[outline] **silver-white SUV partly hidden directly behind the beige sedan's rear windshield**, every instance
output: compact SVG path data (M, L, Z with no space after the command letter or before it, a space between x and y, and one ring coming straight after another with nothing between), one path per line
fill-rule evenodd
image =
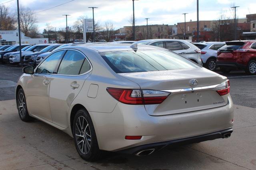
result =
M153 45L169 49L195 63L202 65L201 51L195 45L182 39L146 39L137 41L134 44Z

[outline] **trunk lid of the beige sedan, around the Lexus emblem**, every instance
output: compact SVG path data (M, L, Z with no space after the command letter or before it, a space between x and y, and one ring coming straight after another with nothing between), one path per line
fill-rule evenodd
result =
M192 79L198 81L196 87L214 86L226 80L226 77L206 68L119 74L136 82L141 89L174 91L161 104L144 105L149 115L184 113L220 107L228 103L227 95L220 96L213 89L178 90L191 88L190 80Z

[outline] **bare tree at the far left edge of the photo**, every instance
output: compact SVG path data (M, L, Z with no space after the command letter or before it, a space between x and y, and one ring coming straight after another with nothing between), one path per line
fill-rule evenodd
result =
M9 8L0 5L0 30L13 30L16 28L16 19L10 14Z

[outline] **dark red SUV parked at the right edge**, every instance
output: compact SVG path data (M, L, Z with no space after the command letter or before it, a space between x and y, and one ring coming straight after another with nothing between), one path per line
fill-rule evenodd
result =
M256 74L256 40L230 41L218 50L216 64L223 73L243 69Z

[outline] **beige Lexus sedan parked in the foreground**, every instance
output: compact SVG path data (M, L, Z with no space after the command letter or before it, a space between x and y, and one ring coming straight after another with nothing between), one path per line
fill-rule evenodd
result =
M233 131L229 80L167 49L68 46L23 72L20 119L68 133L85 160L106 150L144 156Z

